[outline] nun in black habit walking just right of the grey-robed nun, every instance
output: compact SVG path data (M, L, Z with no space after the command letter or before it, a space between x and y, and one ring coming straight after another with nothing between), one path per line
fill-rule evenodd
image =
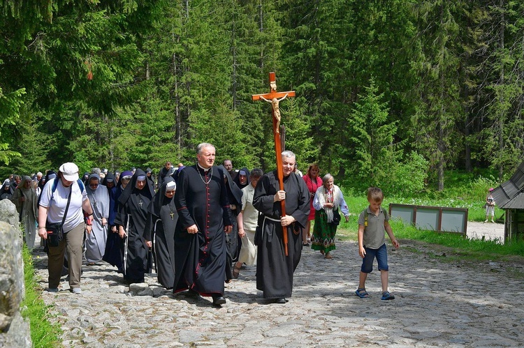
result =
M118 198L119 206L115 225L117 225L119 236L124 239L122 264L124 279L129 282L144 282L144 275L148 271L150 252L145 245L144 230L147 206L153 196L154 191L147 184L145 172L142 169L136 169L131 181Z

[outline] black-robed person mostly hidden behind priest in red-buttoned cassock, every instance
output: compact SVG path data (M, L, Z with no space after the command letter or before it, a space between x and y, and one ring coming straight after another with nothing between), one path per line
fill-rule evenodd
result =
M240 190L237 184L231 179L231 175L228 173L224 165L219 165L218 167L222 169L222 172L224 172L224 183L226 183L229 206L231 208L229 219L231 220L231 225L233 225L231 233L226 234L226 282L230 282L233 279L233 263L238 260L238 253L240 252L237 216L238 213L242 211L242 190Z

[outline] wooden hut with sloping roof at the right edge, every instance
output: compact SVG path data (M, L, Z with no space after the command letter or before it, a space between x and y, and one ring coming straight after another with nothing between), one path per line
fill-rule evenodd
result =
M511 179L491 192L497 206L504 209L504 241L524 238L524 162Z

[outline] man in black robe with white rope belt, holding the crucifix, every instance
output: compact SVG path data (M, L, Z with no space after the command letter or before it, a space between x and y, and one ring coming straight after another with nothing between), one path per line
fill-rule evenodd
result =
M293 273L302 254L302 232L310 214L310 192L305 181L293 173L295 154L282 152L284 190L279 190L277 171L264 174L256 184L253 206L262 213L256 229L256 289L264 298L286 303L293 292ZM280 201L285 199L286 215ZM288 236L288 256L282 232Z

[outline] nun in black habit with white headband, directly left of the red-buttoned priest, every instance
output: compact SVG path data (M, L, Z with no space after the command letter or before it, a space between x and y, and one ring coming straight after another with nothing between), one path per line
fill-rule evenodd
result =
M167 176L154 196L147 212L144 239L152 248L159 283L173 289L175 283L175 227L178 213L175 207L175 180Z

